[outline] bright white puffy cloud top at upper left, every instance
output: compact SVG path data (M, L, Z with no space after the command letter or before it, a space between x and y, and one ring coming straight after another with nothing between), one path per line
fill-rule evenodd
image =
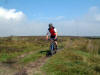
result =
M5 9L3 7L0 7L0 18L4 18L7 20L13 19L13 20L21 20L22 18L25 18L25 15L23 12L19 11L16 12L16 9Z

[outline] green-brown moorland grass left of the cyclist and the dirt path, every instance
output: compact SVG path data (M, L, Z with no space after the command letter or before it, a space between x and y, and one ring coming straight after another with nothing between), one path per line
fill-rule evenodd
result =
M34 53L35 51L40 51L41 49L46 50L48 47L46 41L41 40L41 37L8 37L3 38L0 41L1 62L9 62L10 60L16 59L20 55L24 55L25 53ZM28 56L26 55L26 58L27 57Z

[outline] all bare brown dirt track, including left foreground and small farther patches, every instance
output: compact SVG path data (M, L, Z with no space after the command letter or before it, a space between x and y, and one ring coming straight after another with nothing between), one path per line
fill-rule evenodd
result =
M58 52L61 49L58 50ZM29 52L28 54L32 54L33 52ZM28 54L24 54L19 56L20 58L25 57ZM49 57L43 56L37 59L34 62L30 62L24 67L19 68L17 64L0 64L0 75L46 75L45 72L41 70L41 67L48 61ZM18 68L16 68L18 67Z

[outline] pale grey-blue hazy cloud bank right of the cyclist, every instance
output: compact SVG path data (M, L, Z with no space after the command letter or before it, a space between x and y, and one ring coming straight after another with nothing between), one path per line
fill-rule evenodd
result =
M75 36L100 36L100 11L91 7L87 14L74 20L55 23L60 34Z

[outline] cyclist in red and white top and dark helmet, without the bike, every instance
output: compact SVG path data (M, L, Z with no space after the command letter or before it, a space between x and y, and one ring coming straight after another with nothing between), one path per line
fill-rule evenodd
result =
M50 39L54 39L55 44L56 44L56 49L57 49L57 30L53 26L53 24L49 24L48 32L46 34L46 39L48 40L48 36L50 35Z

